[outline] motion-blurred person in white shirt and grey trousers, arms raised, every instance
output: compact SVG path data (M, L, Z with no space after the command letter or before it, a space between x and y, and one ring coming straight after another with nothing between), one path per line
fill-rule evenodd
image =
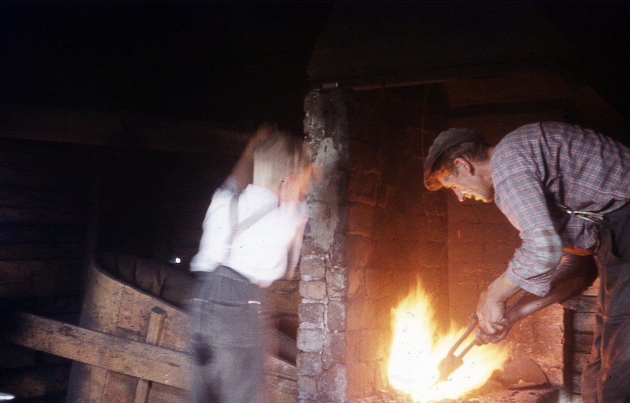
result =
M311 172L303 139L262 124L214 192L190 262L192 402L263 400L263 289L293 275Z

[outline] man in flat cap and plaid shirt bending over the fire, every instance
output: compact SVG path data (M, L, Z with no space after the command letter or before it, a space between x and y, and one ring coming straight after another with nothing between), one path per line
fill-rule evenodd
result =
M520 231L507 270L482 293L481 337L498 342L513 320L506 301L524 289L546 296L571 266L595 255L601 288L595 341L583 370L584 403L630 399L630 151L598 132L558 122L516 129L491 146L472 129L449 129L425 160L425 185L460 201L495 201Z

